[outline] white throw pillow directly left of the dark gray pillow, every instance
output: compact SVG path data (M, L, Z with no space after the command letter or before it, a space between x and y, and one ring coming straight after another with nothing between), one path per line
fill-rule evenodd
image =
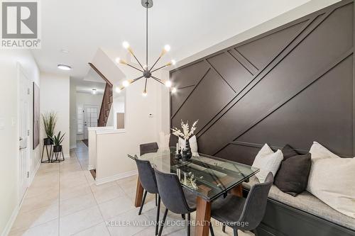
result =
M273 152L267 144L263 145L261 150L256 155L252 165L253 167L260 169L260 171L255 175L259 182L265 182L268 172L272 172L273 176L275 176L282 161L283 152L281 152L281 150Z

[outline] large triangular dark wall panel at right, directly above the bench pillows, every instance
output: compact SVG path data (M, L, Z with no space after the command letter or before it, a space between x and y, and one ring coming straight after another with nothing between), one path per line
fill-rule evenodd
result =
M312 142L317 140L332 147L334 152L351 156L352 69L353 60L348 57L237 141L270 142L278 147L288 143L309 150Z

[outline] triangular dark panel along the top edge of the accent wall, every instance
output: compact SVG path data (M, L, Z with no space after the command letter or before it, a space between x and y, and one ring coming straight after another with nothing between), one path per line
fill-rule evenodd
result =
M294 26L285 28L266 37L259 38L250 43L236 47L241 55L248 60L256 68L261 69L275 57L275 54L280 51L286 43L296 35L296 33L305 25L305 22L297 23Z

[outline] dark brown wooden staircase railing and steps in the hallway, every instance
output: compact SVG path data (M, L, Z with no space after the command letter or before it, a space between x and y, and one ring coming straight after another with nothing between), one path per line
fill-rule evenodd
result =
M94 69L97 74L99 74L102 79L106 82L105 86L105 91L104 91L104 96L102 97L102 103L101 103L101 109L100 109L100 114L99 114L99 120L97 120L97 126L98 127L104 127L107 125L107 119L109 118L109 113L111 111L111 105L113 103L114 95L113 95L113 89L112 89L112 84L109 82L109 80L102 74L102 72L97 69L97 67L94 66L94 64L89 63L89 66Z

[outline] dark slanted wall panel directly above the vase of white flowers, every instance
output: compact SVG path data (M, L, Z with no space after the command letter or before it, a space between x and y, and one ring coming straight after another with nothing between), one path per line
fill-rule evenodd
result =
M234 91L214 70L210 69L185 101L184 106L176 113L172 125L180 127L180 120L189 120L192 123L198 119L198 132L199 128L215 116L219 108L225 106L233 96Z

